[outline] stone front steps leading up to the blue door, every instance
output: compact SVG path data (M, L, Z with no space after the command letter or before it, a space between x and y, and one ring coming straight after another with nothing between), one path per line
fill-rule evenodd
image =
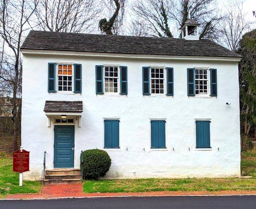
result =
M81 170L73 168L46 170L44 184L81 183Z

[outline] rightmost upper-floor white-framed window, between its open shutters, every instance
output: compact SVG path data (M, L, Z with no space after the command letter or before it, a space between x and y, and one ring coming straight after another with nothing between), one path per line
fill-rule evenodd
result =
M196 95L209 95L208 78L209 75L207 68L195 68Z

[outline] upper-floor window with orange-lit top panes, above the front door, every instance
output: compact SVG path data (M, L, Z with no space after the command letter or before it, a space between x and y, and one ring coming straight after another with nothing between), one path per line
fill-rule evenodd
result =
M73 91L73 65L58 64L58 91Z

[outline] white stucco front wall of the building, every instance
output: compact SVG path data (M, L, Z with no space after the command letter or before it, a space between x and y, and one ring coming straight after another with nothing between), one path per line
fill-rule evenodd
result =
M49 94L48 62L81 63L82 94ZM53 168L54 125L52 121L47 127L46 100L83 101L82 127L75 124L75 167L79 167L81 150L103 149L104 118L119 118L120 149L105 149L112 158L106 178L240 175L237 62L24 54L23 63L21 140L30 151L25 179L41 178L44 151L47 169ZM128 66L127 96L95 94L95 65L102 64ZM143 96L142 66L173 67L174 96ZM187 97L188 67L217 68L217 98ZM166 120L167 149L150 148L150 119ZM212 150L195 149L195 119L211 120Z

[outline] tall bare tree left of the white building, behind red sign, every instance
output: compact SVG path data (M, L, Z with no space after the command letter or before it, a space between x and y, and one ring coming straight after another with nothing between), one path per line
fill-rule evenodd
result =
M22 74L20 45L27 26L30 28L37 0L3 0L0 4L0 36L8 51L8 56L3 55L0 83L5 82L12 91L13 150L16 150Z

